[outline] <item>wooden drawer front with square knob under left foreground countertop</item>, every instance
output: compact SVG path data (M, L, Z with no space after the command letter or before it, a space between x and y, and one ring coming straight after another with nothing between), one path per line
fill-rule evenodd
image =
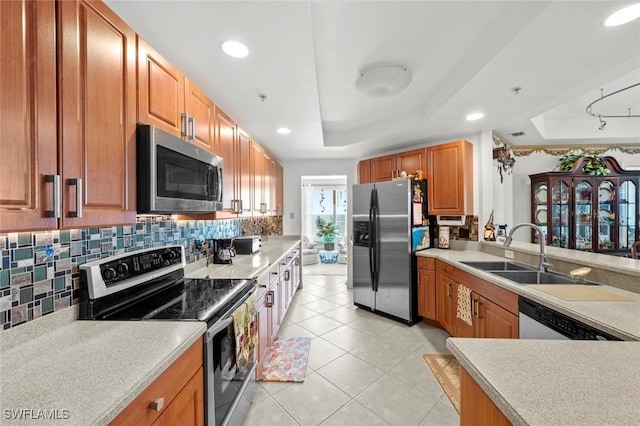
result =
M173 362L131 404L110 423L116 425L150 425L165 411L176 395L202 367L202 337ZM164 398L162 407L153 410L151 404Z

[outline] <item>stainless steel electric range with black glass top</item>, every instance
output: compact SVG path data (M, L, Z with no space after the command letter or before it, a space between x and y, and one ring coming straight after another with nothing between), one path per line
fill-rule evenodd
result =
M182 246L141 250L80 266L80 319L205 321L205 419L208 426L242 424L255 392L255 368L233 362L231 314L253 293L255 280L188 279Z

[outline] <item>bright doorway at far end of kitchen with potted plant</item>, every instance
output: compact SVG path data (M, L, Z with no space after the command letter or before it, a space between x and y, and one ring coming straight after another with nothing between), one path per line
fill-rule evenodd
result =
M302 176L302 264L311 275L347 275L347 177Z

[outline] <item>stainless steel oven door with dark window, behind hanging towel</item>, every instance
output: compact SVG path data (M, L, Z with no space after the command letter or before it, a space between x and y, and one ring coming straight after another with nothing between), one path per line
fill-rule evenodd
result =
M233 339L232 317L217 321L206 333L204 370L207 426L240 425L253 403L258 363L253 360L246 372L237 373L231 362Z

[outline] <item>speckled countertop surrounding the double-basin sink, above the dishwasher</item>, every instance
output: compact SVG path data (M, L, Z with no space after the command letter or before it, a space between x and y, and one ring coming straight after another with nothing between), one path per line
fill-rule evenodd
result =
M569 250L566 250L569 251ZM439 250L430 249L416 253L417 256L435 257L456 268L474 274L499 287L542 303L558 312L564 313L585 324L589 324L604 332L623 340L640 340L640 294L615 287L599 286L603 291L620 294L635 302L574 302L554 297L536 290L535 285L516 284L506 278L465 265L463 261L509 260L478 250ZM603 256L603 255L600 255ZM625 259L623 262L626 263ZM632 259L639 263L637 260ZM640 274L639 274L640 275Z

